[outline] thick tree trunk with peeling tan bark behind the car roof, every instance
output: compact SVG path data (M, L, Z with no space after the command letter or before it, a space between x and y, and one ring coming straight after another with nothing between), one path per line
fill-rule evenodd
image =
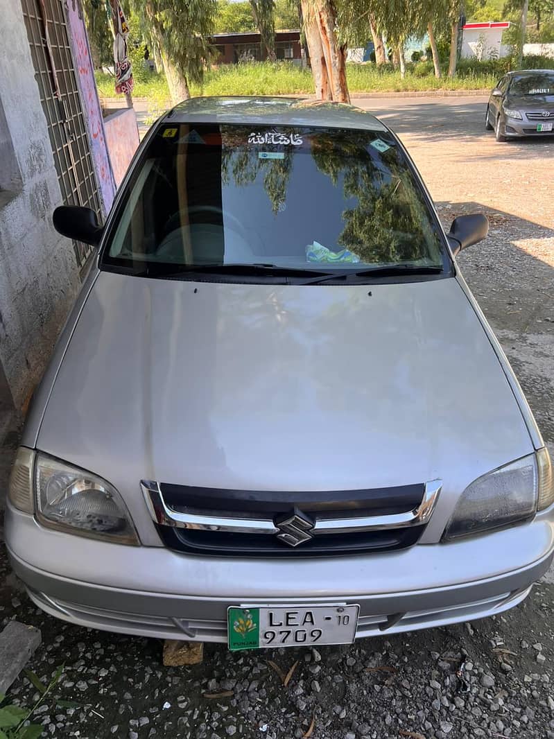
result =
M338 39L335 0L302 0L302 15L312 62L315 98L349 103L346 41Z

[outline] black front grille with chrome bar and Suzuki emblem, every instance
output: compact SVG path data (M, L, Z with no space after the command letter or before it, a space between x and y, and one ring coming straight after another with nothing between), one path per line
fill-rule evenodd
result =
M142 483L166 547L214 556L338 556L420 539L433 483L350 491L240 491Z

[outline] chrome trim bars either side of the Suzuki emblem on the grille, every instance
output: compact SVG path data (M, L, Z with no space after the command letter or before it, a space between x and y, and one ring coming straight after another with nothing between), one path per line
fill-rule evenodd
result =
M225 534L278 534L280 531L271 519L211 516L192 508L186 511L176 511L165 503L159 483L141 480L140 488L152 520L158 525L201 531L220 531ZM363 531L383 531L389 528L424 525L428 523L433 514L441 488L442 480L431 480L425 483L421 503L412 511L404 513L344 518L316 517L310 534L312 536L355 534Z

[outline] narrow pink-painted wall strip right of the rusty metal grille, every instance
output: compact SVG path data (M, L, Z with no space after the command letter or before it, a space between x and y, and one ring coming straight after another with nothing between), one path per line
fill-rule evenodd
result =
M68 0L66 2L66 17L100 200L103 202L104 212L107 213L114 200L115 184L106 146L102 110L98 101L92 55L80 0Z

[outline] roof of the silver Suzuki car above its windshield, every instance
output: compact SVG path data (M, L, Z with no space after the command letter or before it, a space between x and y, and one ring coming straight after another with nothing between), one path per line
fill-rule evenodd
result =
M162 123L259 123L273 126L387 131L371 113L346 103L306 98L213 97L179 103Z

